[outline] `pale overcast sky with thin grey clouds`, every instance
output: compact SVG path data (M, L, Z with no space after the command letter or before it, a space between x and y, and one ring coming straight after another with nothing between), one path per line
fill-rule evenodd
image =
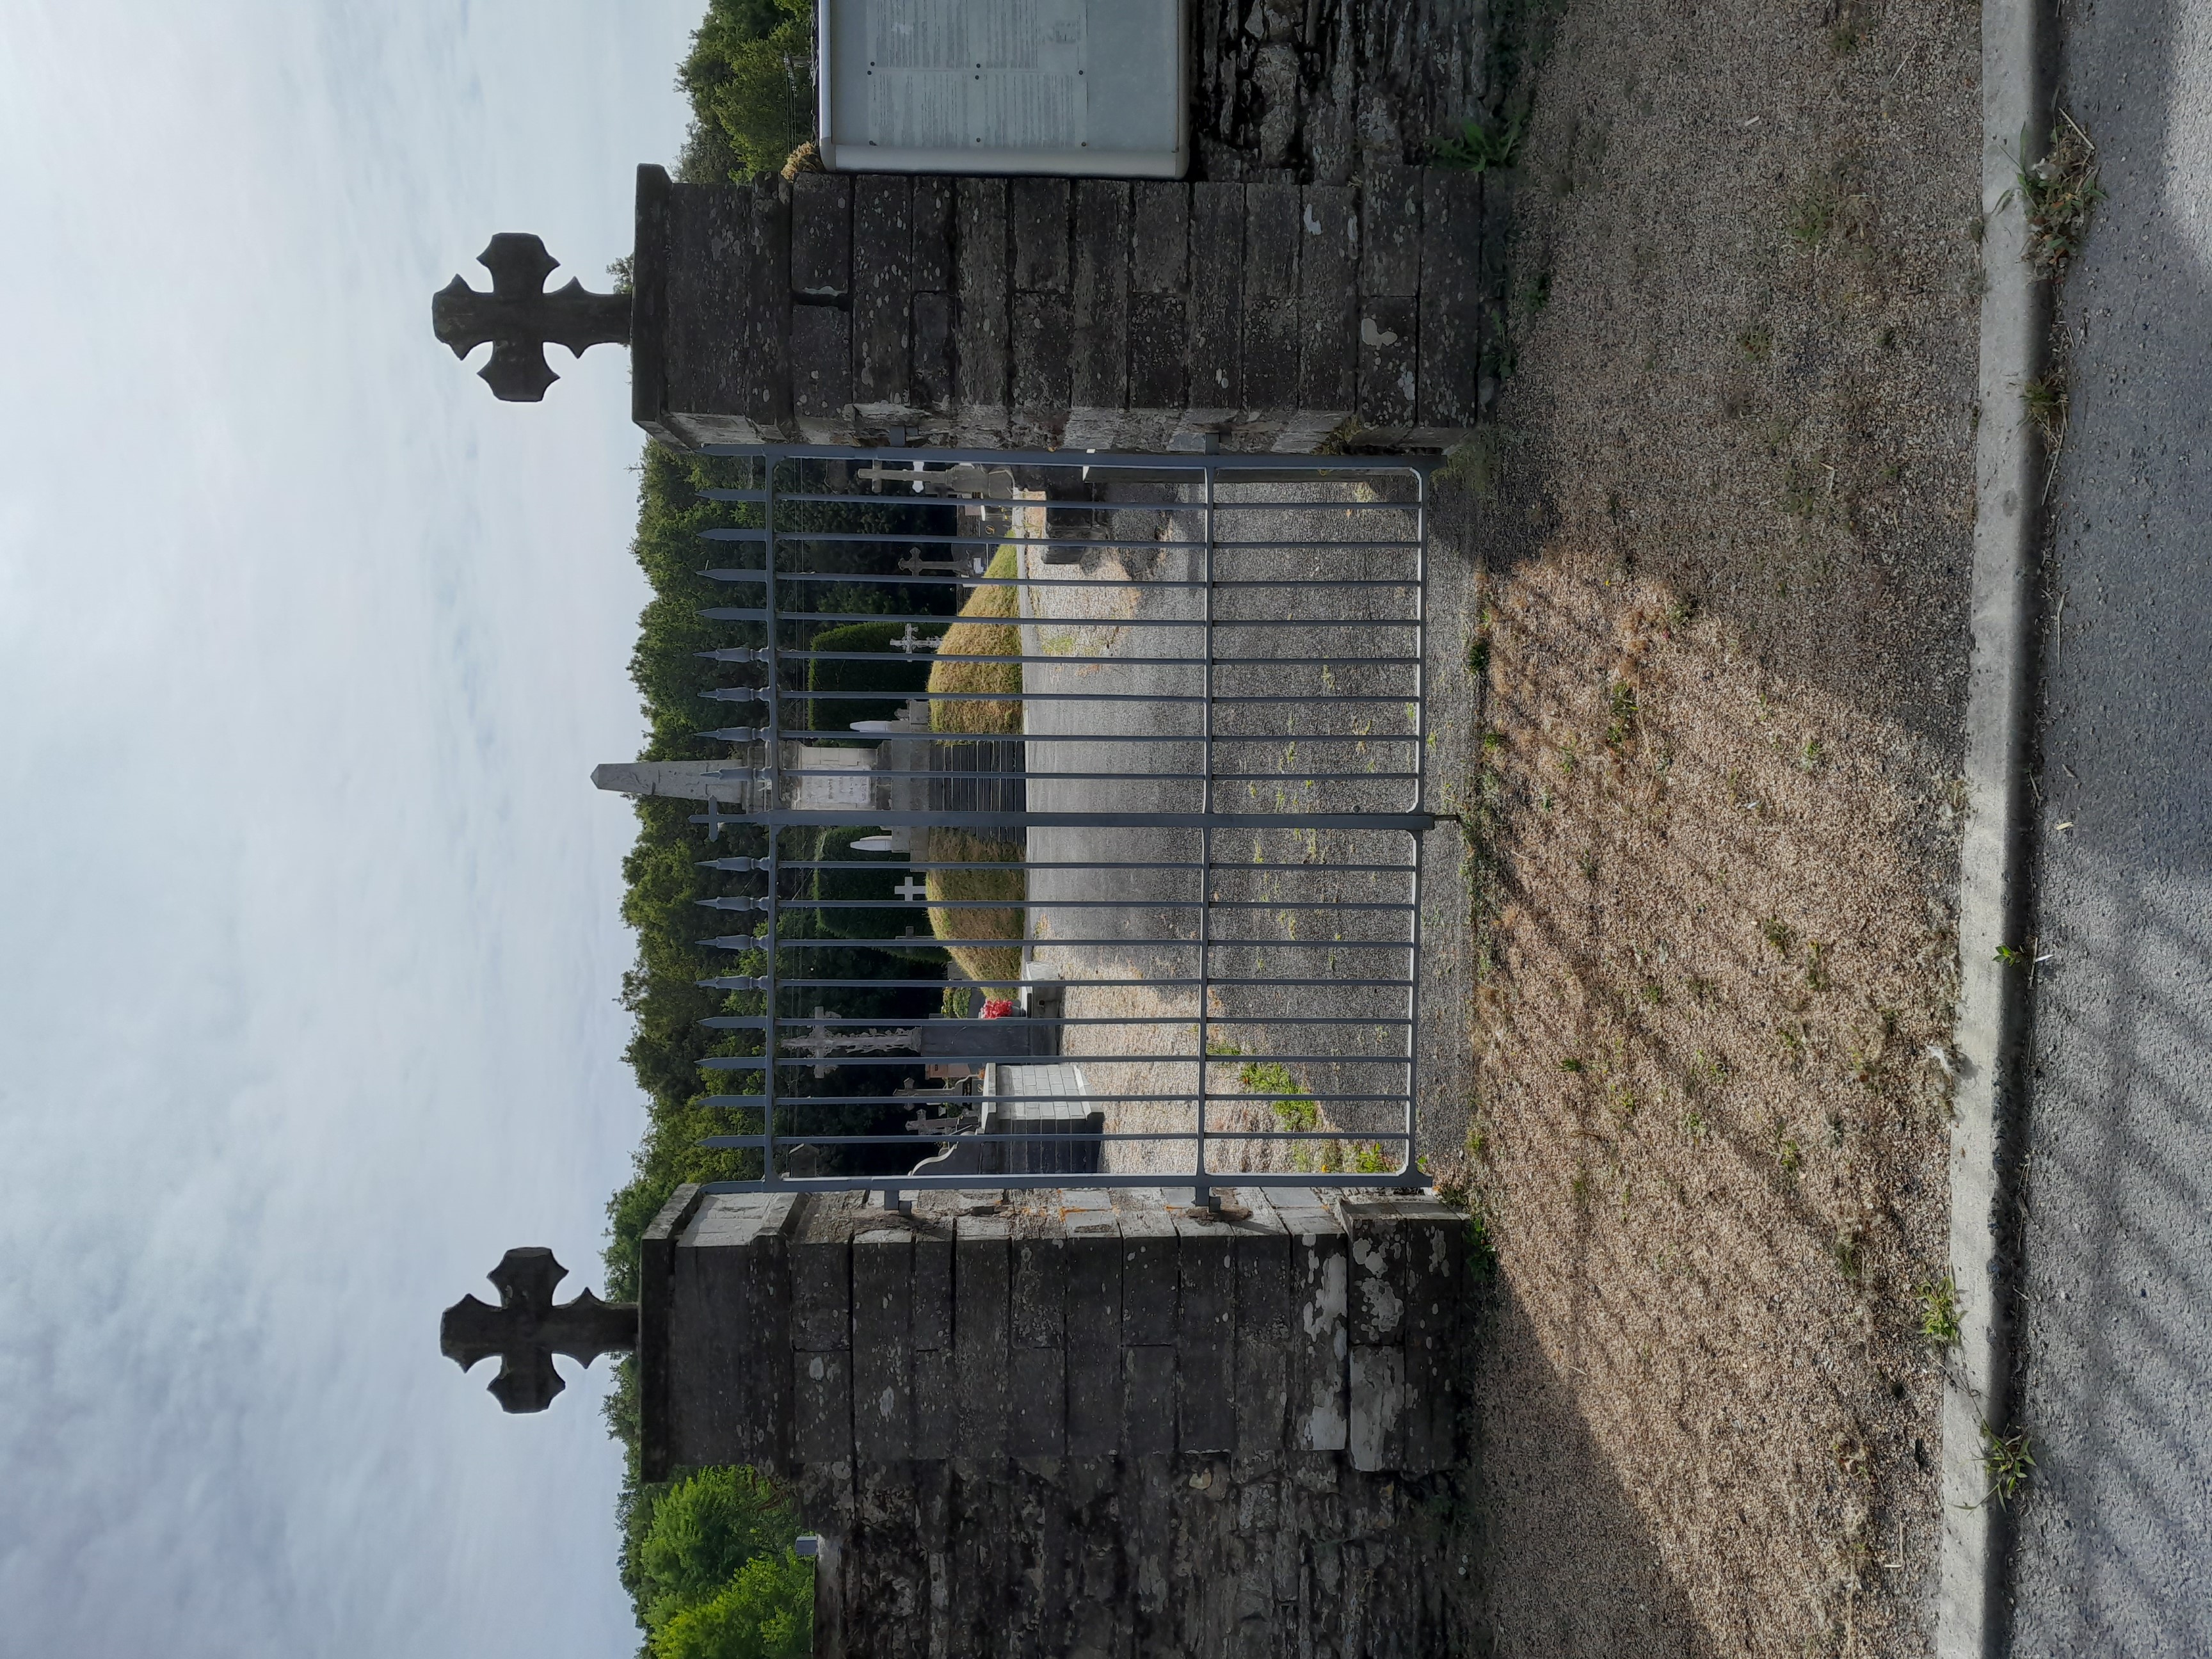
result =
M436 1345L641 1124L628 363L429 296L606 285L701 9L0 18L0 1652L635 1648L606 1363Z

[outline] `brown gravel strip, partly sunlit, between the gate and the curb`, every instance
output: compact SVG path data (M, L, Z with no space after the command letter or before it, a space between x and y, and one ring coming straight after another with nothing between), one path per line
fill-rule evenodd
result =
M1568 0L1484 493L1478 1650L1924 1652L1973 515L1955 4Z

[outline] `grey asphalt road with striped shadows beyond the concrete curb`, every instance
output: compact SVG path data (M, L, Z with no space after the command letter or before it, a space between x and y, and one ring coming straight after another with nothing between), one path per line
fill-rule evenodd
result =
M2013 1652L2148 1659L2212 1652L2212 4L2090 0L2064 77Z

